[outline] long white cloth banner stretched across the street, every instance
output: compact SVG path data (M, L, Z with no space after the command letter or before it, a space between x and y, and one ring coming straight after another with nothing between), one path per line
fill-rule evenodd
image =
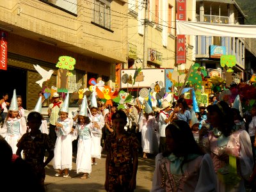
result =
M176 20L176 28L177 35L256 37L256 26L254 25L214 24Z

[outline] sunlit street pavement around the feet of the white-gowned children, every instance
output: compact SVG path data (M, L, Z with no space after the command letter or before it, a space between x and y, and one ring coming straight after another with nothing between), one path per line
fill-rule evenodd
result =
M68 178L55 177L56 170L52 168L52 162L45 168L45 189L47 192L76 192L76 191L105 191L105 161L106 154L102 152L101 159L96 159L97 165L92 165L92 173L88 179L80 179L82 173L76 173L76 158L73 157L73 167ZM150 191L152 177L155 168L155 158L143 159L139 154L137 172L137 186L134 191Z

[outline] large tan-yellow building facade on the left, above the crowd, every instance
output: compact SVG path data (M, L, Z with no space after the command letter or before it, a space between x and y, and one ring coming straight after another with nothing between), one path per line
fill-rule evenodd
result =
M7 37L7 70L0 70L2 92L22 95L33 109L42 88L33 65L54 70L43 87L56 86L60 56L76 59L68 91L87 87L90 78L115 84L116 63L127 63L126 0L0 1L0 29ZM11 77L11 78L10 78Z

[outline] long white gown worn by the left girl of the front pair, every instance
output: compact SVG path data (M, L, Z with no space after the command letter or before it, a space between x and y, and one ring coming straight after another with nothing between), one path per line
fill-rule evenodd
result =
M70 132L73 120L71 118L66 118L65 120L58 118L57 122L62 124L63 127L56 127L57 140L52 166L56 170L72 170L72 134Z

